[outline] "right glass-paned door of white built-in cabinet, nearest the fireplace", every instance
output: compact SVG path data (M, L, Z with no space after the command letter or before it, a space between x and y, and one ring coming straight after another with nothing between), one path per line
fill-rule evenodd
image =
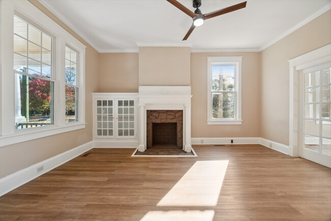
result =
M117 99L117 138L134 138L134 100Z

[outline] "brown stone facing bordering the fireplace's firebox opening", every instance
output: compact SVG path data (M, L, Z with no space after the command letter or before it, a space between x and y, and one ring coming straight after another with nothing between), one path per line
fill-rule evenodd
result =
M177 147L183 147L183 110L147 110L147 148L153 146L153 123L176 123ZM164 140L172 139L170 131L163 131ZM166 134L167 133L167 134ZM161 138L161 137L160 137Z

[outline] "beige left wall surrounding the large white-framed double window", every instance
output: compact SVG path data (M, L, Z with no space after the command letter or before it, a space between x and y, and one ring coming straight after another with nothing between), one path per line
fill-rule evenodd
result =
M38 1L30 1L42 12L59 23L66 31L87 46L86 48L86 128L19 144L0 147L0 178L30 165L92 141L92 92L97 88L99 53L82 40L67 25L51 14Z

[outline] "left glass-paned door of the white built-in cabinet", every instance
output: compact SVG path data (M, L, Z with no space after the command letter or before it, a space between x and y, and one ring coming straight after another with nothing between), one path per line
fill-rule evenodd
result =
M114 137L114 100L96 100L97 136Z

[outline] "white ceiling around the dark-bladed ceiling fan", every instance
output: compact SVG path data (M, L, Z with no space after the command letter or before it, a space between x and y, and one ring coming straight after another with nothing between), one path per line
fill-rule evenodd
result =
M137 45L192 45L192 51L260 51L330 8L331 0L247 0L246 8L205 21L166 0L39 0L99 52ZM202 0L203 14L245 0ZM194 11L191 0L179 0Z

